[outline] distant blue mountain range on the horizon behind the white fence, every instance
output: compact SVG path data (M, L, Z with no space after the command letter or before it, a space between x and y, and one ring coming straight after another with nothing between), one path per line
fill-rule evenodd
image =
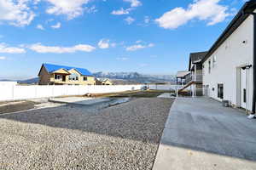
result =
M109 78L117 84L136 84L136 83L157 83L157 82L175 82L174 75L143 75L137 72L96 72L93 73L98 78ZM20 84L37 84L38 77L27 80L16 80ZM10 81L3 79L0 81Z

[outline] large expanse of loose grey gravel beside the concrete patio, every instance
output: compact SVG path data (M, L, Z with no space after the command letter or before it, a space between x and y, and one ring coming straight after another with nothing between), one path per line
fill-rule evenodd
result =
M151 169L172 99L0 116L0 169Z

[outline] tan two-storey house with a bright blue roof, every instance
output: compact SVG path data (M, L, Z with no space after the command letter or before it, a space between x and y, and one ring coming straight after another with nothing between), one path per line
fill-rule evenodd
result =
M43 64L38 77L39 85L96 85L90 71L65 65Z

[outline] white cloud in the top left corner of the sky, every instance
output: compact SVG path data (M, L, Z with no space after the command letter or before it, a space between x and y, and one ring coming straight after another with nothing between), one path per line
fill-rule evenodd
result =
M27 26L35 17L31 8L27 6L29 0L1 0L0 21L13 26Z

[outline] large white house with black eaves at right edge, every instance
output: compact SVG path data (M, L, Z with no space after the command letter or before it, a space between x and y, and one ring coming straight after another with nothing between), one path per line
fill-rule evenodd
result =
M202 59L204 93L255 113L256 1L244 4Z

